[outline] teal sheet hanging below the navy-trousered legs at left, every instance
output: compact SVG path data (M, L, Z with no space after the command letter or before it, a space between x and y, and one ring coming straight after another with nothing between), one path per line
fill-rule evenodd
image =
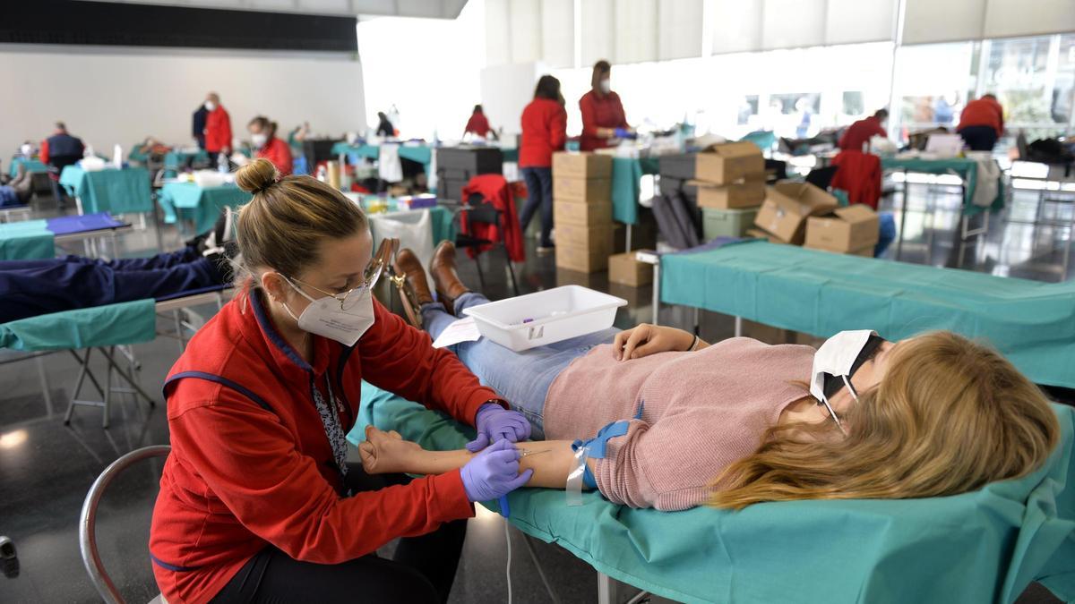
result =
M0 348L40 351L119 346L157 336L153 299L76 308L0 323Z

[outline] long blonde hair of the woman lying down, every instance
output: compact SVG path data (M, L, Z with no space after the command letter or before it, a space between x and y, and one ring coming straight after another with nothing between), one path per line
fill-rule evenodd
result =
M951 495L1037 470L1060 428L1042 392L995 350L937 331L902 342L836 427L775 426L714 481L710 504Z

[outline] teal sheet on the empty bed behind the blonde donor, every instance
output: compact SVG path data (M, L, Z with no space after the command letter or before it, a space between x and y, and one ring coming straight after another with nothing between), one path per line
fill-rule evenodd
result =
M1075 282L1050 284L751 241L661 257L661 301L828 337L945 329L1075 388Z

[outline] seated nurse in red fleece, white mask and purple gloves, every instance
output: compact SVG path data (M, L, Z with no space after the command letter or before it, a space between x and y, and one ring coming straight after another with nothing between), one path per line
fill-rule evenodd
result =
M164 384L172 452L149 536L157 585L177 602L444 602L472 502L521 486L506 409L429 336L370 293L366 216L267 159L236 235L239 296L199 330ZM476 425L460 471L387 481L347 463L361 380ZM377 548L400 541L392 560Z

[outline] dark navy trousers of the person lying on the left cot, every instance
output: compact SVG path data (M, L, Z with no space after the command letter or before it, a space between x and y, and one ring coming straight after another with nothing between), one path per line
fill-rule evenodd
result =
M190 247L110 261L80 256L0 261L0 322L164 298L221 283L213 263Z

